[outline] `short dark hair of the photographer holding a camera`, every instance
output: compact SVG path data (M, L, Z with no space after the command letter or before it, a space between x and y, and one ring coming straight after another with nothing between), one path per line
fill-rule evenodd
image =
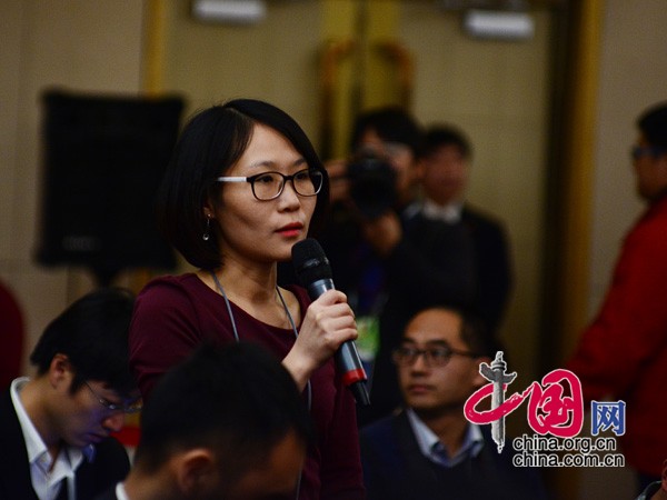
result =
M401 107L387 106L360 113L352 128L352 151L358 149L361 136L367 130L375 130L384 141L406 144L415 157L419 154L424 131L417 120Z

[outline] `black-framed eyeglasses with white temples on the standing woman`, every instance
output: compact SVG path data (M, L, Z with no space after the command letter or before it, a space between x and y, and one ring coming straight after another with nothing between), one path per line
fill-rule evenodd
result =
M291 181L292 188L301 197L313 197L322 189L325 176L321 170L303 169L291 176L280 172L262 172L249 177L219 177L218 182L249 182L252 194L259 201L275 200L285 189L287 181Z

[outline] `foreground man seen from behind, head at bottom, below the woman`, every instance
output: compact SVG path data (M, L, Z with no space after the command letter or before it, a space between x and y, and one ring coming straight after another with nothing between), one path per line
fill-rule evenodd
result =
M157 383L130 474L97 500L295 499L311 434L273 354L202 346Z

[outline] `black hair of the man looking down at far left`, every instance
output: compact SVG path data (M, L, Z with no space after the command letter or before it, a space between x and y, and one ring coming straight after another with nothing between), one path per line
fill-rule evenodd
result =
M98 380L120 396L130 396L137 390L128 348L133 306L135 294L123 288L87 293L47 326L30 362L42 376L56 354L64 354L76 373L72 393L86 380Z

